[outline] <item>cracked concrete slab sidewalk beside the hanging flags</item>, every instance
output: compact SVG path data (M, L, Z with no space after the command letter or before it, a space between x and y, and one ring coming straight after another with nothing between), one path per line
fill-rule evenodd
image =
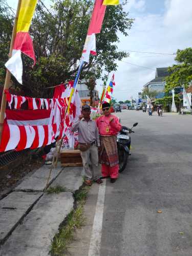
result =
M82 167L52 170L49 185L66 188L59 194L44 193L50 166L26 176L0 200L0 255L45 256L60 223L73 210L73 194L83 183Z

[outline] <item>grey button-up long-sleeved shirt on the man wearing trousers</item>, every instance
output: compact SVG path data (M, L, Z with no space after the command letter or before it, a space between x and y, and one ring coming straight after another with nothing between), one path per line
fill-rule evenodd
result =
M100 146L99 130L94 120L90 119L87 122L82 118L72 125L72 131L78 131L78 141L80 143L92 143L95 141L97 146Z

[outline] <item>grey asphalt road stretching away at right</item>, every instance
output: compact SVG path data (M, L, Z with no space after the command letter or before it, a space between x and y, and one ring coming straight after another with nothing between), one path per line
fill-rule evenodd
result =
M89 256L191 256L192 116L127 110L118 116L123 125L139 124L126 169L116 183L106 181L100 251L98 244ZM98 187L91 188L87 226L71 255L88 255Z

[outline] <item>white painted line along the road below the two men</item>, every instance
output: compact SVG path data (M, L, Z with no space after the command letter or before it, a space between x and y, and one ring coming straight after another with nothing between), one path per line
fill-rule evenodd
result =
M99 185L99 192L98 192L97 204L95 209L95 217L93 221L93 228L92 228L88 256L100 255L105 188L106 188L106 179L103 180L102 185Z

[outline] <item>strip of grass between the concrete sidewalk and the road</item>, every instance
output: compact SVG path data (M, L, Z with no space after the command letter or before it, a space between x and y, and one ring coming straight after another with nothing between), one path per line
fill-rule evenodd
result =
M75 193L74 198L77 206L70 212L65 224L61 226L59 232L53 238L50 250L52 256L65 255L69 243L73 240L75 229L81 228L84 224L83 205L86 202L89 189L90 187L83 187Z

